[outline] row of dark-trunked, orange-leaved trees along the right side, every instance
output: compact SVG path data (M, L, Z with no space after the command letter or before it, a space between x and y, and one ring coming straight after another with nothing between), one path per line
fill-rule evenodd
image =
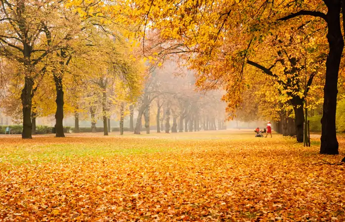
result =
M324 80L320 153L338 154L335 118L344 48L341 0L116 2L115 7L120 5L138 24L144 23L144 37L145 31L159 32L163 54L178 53L188 61L187 66L197 72L198 87L225 89L223 100L230 117L243 103L256 73L270 77L275 86L272 94L286 98L281 110L289 111L286 104L293 110L298 142L302 142L303 106L319 75Z

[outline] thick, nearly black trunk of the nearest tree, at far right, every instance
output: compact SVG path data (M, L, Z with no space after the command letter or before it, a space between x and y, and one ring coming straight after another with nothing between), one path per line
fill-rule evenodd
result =
M326 3L326 5L328 7L327 40L329 44L329 53L326 60L326 81L323 89L324 102L321 118L322 130L320 153L339 154L339 144L336 133L337 87L339 66L344 49L344 39L340 26L341 3L340 1L330 1Z

